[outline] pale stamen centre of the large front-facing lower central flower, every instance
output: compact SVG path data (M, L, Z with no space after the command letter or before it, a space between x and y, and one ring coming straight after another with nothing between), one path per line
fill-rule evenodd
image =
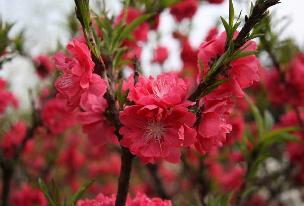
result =
M166 130L163 123L155 119L150 119L147 126L143 126L142 128L145 130L142 139L145 139L146 143L148 143L151 138L153 138L155 142L160 142Z

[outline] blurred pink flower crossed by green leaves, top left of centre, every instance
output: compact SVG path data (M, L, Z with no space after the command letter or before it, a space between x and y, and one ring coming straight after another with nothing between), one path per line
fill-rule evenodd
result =
M123 9L121 14L115 19L114 25L118 25L121 20L123 20L124 14L125 14L126 9ZM142 15L142 12L129 7L128 8L128 15L126 18L126 24L129 25L132 21L134 21L136 18L140 17ZM132 35L136 41L147 41L148 37L148 32L149 32L149 25L147 22L143 22L139 26L137 26L133 32Z

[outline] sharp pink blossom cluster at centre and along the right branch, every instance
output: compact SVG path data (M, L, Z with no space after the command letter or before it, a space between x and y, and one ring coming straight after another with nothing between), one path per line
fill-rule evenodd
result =
M222 33L200 45L198 58L204 63L206 74L210 59L224 53L225 40L226 33ZM257 45L251 41L245 50L255 49ZM159 75L156 80L140 77L128 95L135 105L126 107L120 113L124 124L120 130L123 135L120 144L139 156L142 163L155 163L160 158L179 162L179 148L193 144L202 154L222 146L226 134L232 130L232 125L226 122L226 115L231 114L234 105L232 95L244 97L242 89L259 80L259 60L254 55L230 64L231 68L225 74L230 80L200 100L202 111L195 128L192 127L196 117L187 108L195 104L186 98L189 89L187 79L178 78L175 73ZM200 71L199 68L198 82L206 75Z

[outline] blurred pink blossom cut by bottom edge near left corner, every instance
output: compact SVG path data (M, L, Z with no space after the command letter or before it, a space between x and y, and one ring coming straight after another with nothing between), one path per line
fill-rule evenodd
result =
M42 191L34 189L29 185L23 185L19 191L15 191L11 195L10 199L13 206L48 205Z

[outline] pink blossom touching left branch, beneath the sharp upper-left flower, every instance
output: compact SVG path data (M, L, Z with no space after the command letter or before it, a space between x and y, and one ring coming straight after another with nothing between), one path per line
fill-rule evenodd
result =
M104 117L107 101L102 96L89 94L81 100L80 105L85 112L78 113L76 119L80 122L82 131L88 134L89 141L94 145L104 145L107 141L118 143L114 127Z

